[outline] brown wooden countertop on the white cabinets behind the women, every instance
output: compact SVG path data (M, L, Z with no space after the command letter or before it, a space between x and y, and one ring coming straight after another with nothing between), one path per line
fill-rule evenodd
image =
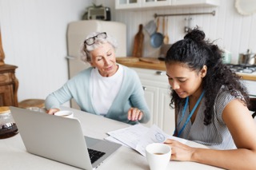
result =
M157 60L157 59L156 59ZM145 61L118 61L121 65L126 65L127 67L135 67L140 69L157 69L157 70L166 70L166 65L164 61L159 63L149 63ZM238 73L243 80L247 81L256 81L256 72L254 73Z

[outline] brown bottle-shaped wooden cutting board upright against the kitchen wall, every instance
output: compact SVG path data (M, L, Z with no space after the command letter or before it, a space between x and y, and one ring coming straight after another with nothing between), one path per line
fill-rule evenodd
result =
M143 57L143 42L144 42L144 34L143 34L143 25L140 24L138 27L138 33L134 38L134 50L133 57Z

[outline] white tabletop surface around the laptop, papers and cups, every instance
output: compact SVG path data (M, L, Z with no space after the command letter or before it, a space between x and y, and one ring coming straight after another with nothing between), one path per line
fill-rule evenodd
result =
M107 136L106 132L130 126L120 121L110 120L105 117L85 113L76 109L70 109L66 107L62 107L62 109L69 109L74 112L74 117L78 118L81 122L82 132L86 136L104 139ZM206 148L206 146L192 141L188 141L186 144L198 148ZM4 170L79 169L67 164L62 164L54 160L48 160L41 156L35 156L26 152L26 148L19 134L8 139L0 140L0 151L0 167L1 169ZM97 169L150 170L150 167L146 161L146 157L142 156L133 149L122 146L121 148L118 149L117 152L114 152L113 156L110 156L110 158L107 159L103 164L101 164ZM182 162L171 160L170 163L168 164L167 169L210 170L220 168L208 166L206 164L198 164L194 162Z

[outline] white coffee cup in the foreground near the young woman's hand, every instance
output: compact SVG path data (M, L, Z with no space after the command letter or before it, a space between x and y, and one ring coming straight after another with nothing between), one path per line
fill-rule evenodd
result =
M153 143L146 146L146 160L150 170L165 170L170 162L171 148L167 144Z

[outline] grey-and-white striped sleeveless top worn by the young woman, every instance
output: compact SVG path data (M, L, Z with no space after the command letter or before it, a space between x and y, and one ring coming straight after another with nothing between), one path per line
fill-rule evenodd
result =
M200 144L208 145L210 148L216 149L232 149L236 148L234 140L230 134L230 131L226 127L225 122L222 120L222 112L230 101L234 100L236 97L232 96L230 92L222 86L219 90L217 97L214 101L214 115L213 121L210 125L204 125L204 110L205 98L202 98L201 105L199 106L197 116L195 117L193 125L189 121L181 133L180 137L193 140ZM182 119L178 128L178 131L181 130L182 126L185 124L187 117L189 116L189 107L186 108L185 115ZM179 122L182 118L182 109L178 113Z

